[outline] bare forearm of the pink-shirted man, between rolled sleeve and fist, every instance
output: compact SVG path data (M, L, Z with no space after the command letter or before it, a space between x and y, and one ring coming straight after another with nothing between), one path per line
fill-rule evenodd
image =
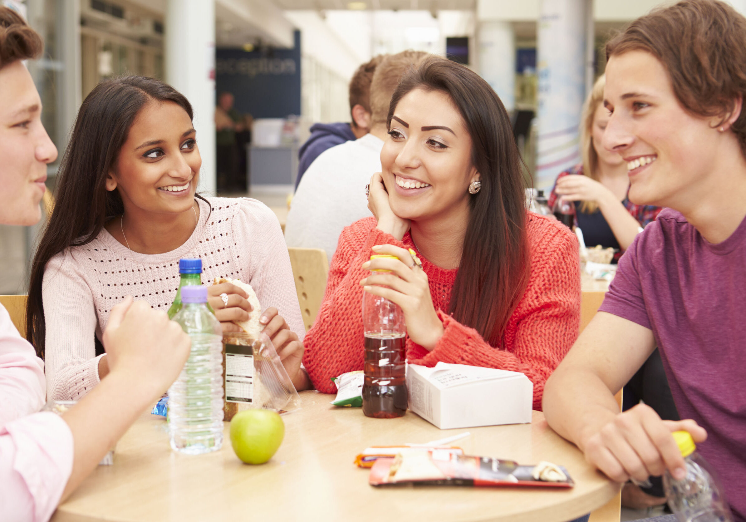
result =
M157 397L158 390L151 386L133 386L135 381L137 379L125 374L110 373L63 415L72 432L75 457L60 502L75 491Z

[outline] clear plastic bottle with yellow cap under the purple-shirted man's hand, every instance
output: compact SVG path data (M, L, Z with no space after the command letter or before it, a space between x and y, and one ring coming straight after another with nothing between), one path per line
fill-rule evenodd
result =
M680 522L733 522L723 485L715 470L695 450L695 441L686 431L673 433L686 465L686 477L674 479L665 471L663 488L668 506Z

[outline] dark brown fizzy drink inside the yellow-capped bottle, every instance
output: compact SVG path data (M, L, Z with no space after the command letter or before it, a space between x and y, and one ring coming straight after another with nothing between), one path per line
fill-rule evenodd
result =
M407 413L406 336L365 336L363 413L395 418Z

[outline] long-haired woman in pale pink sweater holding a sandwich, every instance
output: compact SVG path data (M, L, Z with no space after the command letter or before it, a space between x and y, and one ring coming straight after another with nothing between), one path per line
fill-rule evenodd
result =
M230 277L254 287L265 332L295 386L307 388L280 224L259 201L197 195L200 168L192 107L169 85L119 78L83 102L31 269L28 340L46 359L48 397L78 399L98 384L109 371L100 341L112 307L132 295L167 310L182 257L201 258L203 283ZM224 330L248 319L242 289L225 283L209 295Z

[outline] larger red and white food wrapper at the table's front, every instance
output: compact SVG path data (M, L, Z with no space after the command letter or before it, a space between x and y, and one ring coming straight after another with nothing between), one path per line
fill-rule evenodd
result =
M511 460L459 455L444 450L399 453L393 459L377 459L368 479L370 485L466 485L571 488L574 482L565 468L540 462L519 465Z

